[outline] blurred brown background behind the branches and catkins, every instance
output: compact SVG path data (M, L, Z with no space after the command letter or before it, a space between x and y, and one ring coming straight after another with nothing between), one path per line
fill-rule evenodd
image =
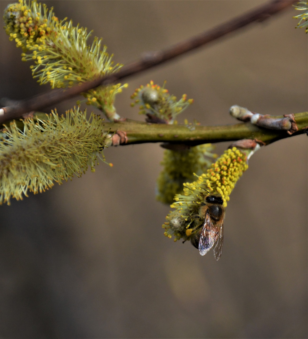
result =
M115 62L128 63L263 2L46 4L59 19L94 29ZM0 2L1 13L8 3ZM118 113L142 119L129 97L150 80L194 98L180 121L234 123L233 104L261 114L306 111L307 35L294 29L295 14L289 8L128 79ZM1 29L1 98L48 89L32 80L20 53ZM74 104L60 103L58 112ZM113 168L101 163L95 173L1 206L1 337L307 337L307 136L250 159L228 203L218 262L212 251L201 257L190 243L163 236L170 208L155 201L162 154L158 144L109 148Z

